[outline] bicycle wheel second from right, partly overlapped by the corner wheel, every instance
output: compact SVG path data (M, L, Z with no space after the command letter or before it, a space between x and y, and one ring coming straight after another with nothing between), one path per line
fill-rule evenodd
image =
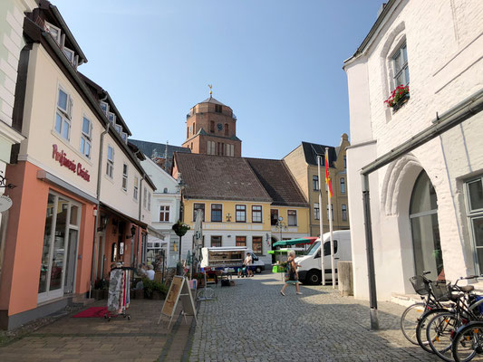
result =
M459 320L454 312L437 314L428 322L426 340L432 351L445 361L454 361L451 345L458 327Z

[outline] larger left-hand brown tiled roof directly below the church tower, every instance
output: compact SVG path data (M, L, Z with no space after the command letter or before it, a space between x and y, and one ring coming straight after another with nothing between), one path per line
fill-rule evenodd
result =
M243 157L176 152L174 162L186 184L183 195L189 198L272 201Z

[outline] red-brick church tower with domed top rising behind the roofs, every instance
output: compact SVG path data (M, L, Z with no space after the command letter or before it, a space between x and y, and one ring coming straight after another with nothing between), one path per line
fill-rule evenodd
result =
M194 106L186 115L186 140L183 147L192 153L241 157L237 138L237 117L233 110L215 100L210 91L207 100Z

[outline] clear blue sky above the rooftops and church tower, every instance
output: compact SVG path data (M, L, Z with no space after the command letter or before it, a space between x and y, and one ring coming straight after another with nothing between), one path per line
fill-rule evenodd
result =
M281 158L349 134L343 61L382 0L51 0L132 138L181 145L209 96L237 115L242 156Z

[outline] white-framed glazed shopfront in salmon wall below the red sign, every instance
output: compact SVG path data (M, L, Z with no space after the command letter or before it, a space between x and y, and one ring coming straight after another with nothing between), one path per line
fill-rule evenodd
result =
M66 288L73 291L77 235L81 217L79 210L80 205L73 203L63 195L49 193L43 233L37 299L39 303L62 297ZM72 251L70 251L71 247ZM70 256L70 252L72 252L72 256ZM72 274L72 280L69 278L66 280L69 272ZM70 284L69 287L67 287L67 282Z

